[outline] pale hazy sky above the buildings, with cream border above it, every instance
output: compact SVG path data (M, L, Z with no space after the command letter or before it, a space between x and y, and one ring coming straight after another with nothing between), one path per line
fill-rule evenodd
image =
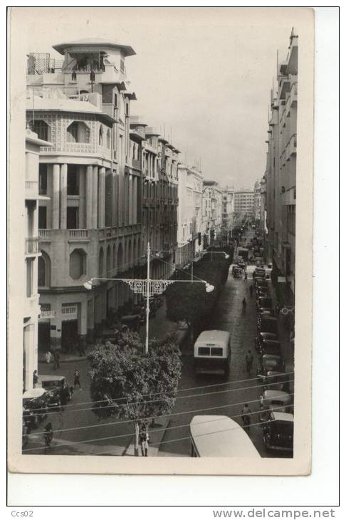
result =
M266 167L267 110L276 50L288 51L295 9L17 8L26 52L109 38L132 46L125 60L132 115L163 128L204 177L251 187ZM298 12L299 15L299 12ZM186 156L185 156L186 154Z

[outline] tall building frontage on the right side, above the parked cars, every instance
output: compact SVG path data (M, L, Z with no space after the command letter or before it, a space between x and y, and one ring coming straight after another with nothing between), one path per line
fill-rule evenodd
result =
M281 281L285 303L295 292L295 175L297 147L298 36L290 35L286 60L278 66L271 90L266 165L268 255ZM285 281L285 282L283 282Z

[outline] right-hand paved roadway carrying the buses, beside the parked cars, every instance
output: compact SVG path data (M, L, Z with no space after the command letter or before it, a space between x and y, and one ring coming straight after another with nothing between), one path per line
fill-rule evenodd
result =
M247 239L253 236L248 231ZM248 267L248 272L253 271ZM248 286L251 284L251 276L248 281L234 279L229 271L229 278L219 298L214 312L213 326L211 328L231 332L231 371L227 380L228 384L220 384L220 378L209 375L194 375L193 355L184 355L182 382L179 387L179 398L173 412L168 429L162 440L159 455L162 456L189 456L189 422L194 415L228 415L242 424L241 409L244 402L250 404L252 412L259 408L258 397L261 395L256 378L256 350L254 338L256 336L256 299L250 298ZM246 313L242 313L242 300L246 298L248 303ZM250 377L246 373L245 355L247 350L253 353L253 372ZM212 386L209 386L212 385ZM198 387L198 388L196 388ZM195 388L194 390L188 390ZM194 397L194 395L196 397ZM254 401L254 402L253 402ZM248 435L256 445L262 457L287 457L286 454L271 454L266 452L262 441L262 427L259 424L258 415L252 416L252 425Z

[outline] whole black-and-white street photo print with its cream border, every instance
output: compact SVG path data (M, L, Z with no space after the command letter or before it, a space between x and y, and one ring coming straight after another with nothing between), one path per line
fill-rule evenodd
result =
M309 472L313 11L10 31L12 470Z

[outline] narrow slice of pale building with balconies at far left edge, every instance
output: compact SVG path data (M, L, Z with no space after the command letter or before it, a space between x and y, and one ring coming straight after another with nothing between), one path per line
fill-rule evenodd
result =
M33 388L33 370L38 365L38 264L41 253L38 245L38 157L40 146L50 145L38 139L37 134L26 130L25 177L23 175L24 203L23 227L16 229L16 247L23 233L25 284L19 284L23 291L23 391ZM16 188L18 189L18 188ZM43 316L43 313L41 313Z

